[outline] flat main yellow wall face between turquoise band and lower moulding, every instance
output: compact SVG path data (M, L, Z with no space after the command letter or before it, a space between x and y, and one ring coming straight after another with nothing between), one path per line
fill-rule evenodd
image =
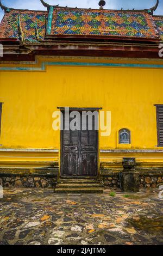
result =
M111 135L101 149L117 148L117 132L131 130L131 148L156 149L154 104L163 103L162 69L48 66L46 72L0 72L1 148L60 148L52 130L58 106L111 111Z

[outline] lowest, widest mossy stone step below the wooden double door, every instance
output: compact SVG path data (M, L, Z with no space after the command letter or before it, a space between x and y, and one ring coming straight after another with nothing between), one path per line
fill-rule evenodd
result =
M84 187L84 188L55 188L54 193L61 193L61 194L90 194L90 193L98 193L102 194L102 188L91 188L91 187Z

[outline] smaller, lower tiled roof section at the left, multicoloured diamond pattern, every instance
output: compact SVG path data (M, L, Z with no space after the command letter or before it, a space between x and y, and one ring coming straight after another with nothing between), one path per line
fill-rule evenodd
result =
M24 33L24 38L27 42L36 41L36 21L40 39L43 39L45 37L47 17L46 11L11 10L9 13L5 13L5 16L0 25L0 38L19 38L18 14L20 14L21 27Z

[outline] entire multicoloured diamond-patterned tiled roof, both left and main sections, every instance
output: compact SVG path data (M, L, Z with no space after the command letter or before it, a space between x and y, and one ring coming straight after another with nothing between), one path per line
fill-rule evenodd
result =
M18 14L26 42L38 42L45 38L48 11L11 9L5 13L0 25L0 39L18 36ZM51 34L54 36L108 36L123 39L158 40L163 38L163 18L152 16L147 11L99 10L54 8Z

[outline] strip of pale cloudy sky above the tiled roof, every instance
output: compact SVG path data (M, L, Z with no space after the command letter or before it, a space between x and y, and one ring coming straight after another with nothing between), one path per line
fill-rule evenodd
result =
M99 0L44 0L48 4L78 8L98 8ZM10 8L46 10L40 0L1 0L2 4ZM105 0L105 9L147 9L155 5L156 0ZM0 10L0 21L4 13ZM163 0L160 0L155 15L163 15Z

